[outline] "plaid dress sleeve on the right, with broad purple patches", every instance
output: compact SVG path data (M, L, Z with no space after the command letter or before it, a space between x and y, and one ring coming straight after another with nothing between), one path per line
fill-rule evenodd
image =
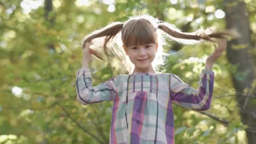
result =
M171 100L187 109L201 111L209 109L213 94L214 72L203 69L199 77L199 87L195 90L178 76L170 74Z

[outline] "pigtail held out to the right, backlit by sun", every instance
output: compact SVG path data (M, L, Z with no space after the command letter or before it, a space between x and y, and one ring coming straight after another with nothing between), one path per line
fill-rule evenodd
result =
M190 33L181 32L180 29L166 22L159 23L158 28L161 29L166 34L168 34L177 42L184 43L184 44L200 43L203 40L213 42L211 38L226 38L225 35L229 35L228 33L225 33L225 32L207 34L203 29L199 29L196 32L190 32Z

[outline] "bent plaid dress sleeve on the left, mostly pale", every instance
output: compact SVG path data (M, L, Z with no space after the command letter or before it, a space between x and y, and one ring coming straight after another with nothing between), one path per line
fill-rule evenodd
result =
M116 97L116 79L113 77L93 87L90 69L78 69L76 90L77 100L83 105L101 101L113 101Z

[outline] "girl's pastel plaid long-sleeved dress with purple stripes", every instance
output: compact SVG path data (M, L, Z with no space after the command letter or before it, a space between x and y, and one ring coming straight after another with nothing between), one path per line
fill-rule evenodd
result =
M81 104L114 101L109 144L174 144L172 103L209 109L214 72L202 70L197 90L168 73L117 75L93 87L83 68L76 79Z

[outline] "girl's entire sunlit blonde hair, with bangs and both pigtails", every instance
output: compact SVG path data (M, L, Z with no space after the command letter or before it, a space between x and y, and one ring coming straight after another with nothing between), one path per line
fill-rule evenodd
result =
M124 23L113 22L102 29L92 32L85 36L82 46L84 48L86 43L92 42L90 48L93 49L94 56L101 60L107 60L111 66L119 66L122 73L125 71L131 73L134 65L125 55L122 45L127 48L134 45L158 43L152 67L156 72L159 72L159 68L165 64L165 56L168 56L163 51L166 38L183 44L196 44L203 40L212 41L211 38L225 38L225 35L228 34L225 32L207 33L204 29L190 33L181 32L173 24L144 14L130 17Z

